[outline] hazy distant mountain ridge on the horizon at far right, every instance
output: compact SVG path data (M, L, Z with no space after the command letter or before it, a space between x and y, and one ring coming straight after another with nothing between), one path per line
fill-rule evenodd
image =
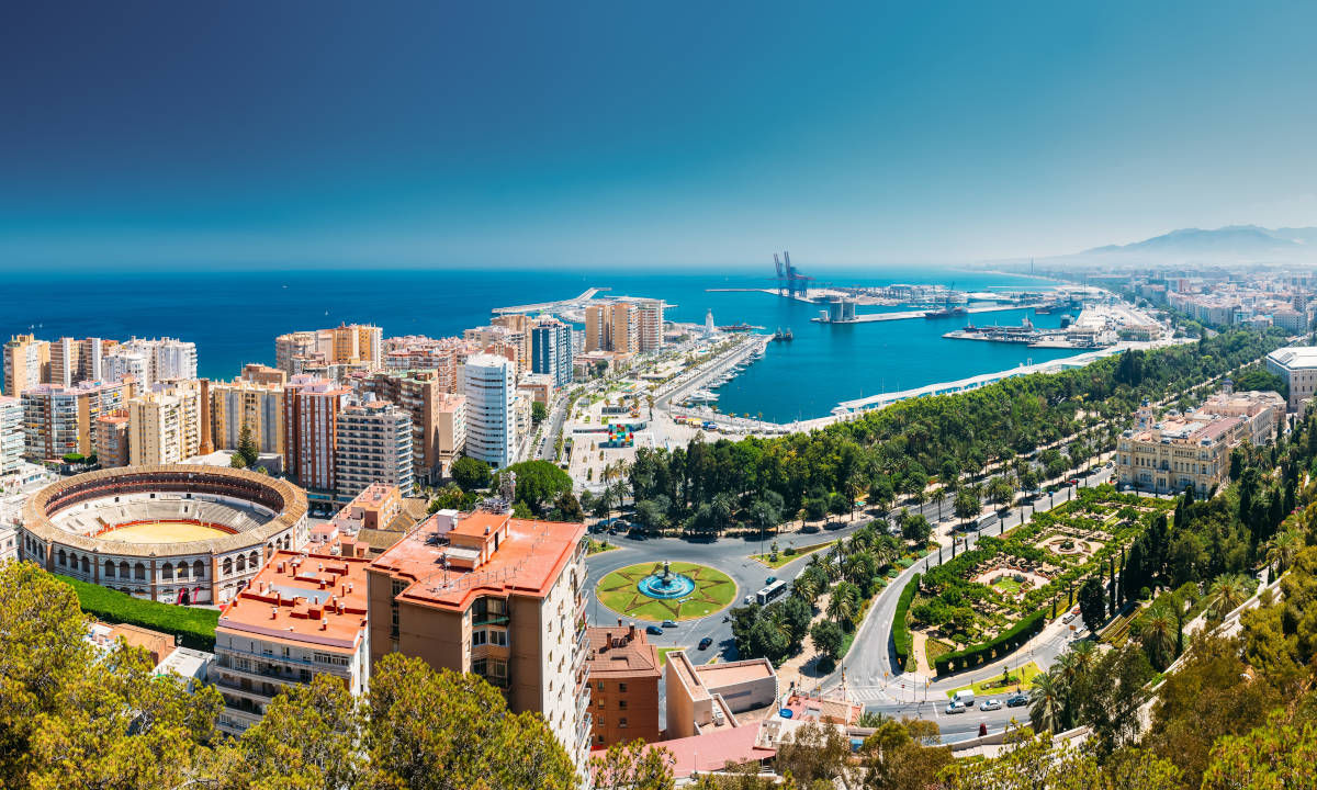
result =
M1214 230L1183 228L1126 245L1084 250L1080 255L1193 257L1193 258L1296 258L1317 253L1317 228L1227 225Z

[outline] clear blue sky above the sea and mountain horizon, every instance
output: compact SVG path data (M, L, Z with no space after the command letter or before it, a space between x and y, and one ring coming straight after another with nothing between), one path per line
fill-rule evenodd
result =
M1317 224L1312 3L32 3L0 269L802 267Z

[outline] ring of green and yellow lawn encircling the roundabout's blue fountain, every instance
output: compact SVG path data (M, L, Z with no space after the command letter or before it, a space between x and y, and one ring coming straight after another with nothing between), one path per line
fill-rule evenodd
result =
M694 562L673 562L672 571L695 582L695 590L686 598L658 599L641 592L636 585L643 578L662 573L662 562L641 562L603 577L598 586L599 600L626 618L658 623L705 618L736 599L736 582L720 570Z

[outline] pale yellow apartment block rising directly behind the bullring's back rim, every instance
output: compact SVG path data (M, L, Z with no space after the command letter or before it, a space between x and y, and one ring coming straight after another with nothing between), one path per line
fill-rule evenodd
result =
M158 383L128 402L128 454L133 466L178 463L202 444L200 387Z

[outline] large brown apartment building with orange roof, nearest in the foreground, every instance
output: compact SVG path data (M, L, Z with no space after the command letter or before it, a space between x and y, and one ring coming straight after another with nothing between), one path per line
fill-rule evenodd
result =
M371 661L400 652L478 674L512 711L543 715L583 765L583 524L514 519L506 508L432 517L367 570Z

